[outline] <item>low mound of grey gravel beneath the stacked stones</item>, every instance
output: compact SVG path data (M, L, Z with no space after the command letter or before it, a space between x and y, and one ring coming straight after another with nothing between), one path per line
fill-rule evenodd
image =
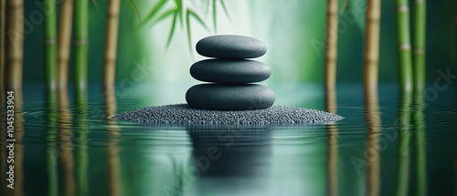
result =
M187 104L136 108L112 117L147 124L281 125L322 124L344 119L310 108L271 106L257 110L219 111L191 108Z

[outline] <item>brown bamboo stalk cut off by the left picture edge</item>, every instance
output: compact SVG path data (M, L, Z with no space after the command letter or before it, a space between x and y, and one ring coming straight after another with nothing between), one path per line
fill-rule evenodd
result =
M6 0L0 0L0 103L5 101L5 26Z

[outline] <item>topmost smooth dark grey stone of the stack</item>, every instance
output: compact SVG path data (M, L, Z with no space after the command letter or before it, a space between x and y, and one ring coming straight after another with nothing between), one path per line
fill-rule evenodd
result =
M267 52L263 42L249 36L207 36L196 47L201 56L219 58L254 58Z

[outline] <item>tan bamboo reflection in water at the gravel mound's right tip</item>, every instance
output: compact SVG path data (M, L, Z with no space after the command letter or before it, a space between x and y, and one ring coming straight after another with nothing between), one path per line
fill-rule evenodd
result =
M336 113L335 88L325 90L325 109ZM334 123L327 125L328 151L327 151L327 195L338 195L338 129Z

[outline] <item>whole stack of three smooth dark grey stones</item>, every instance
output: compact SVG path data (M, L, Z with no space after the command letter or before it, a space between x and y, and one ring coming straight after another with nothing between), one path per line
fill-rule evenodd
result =
M248 36L207 36L197 42L197 53L212 57L190 67L190 75L208 82L189 88L186 101L194 108L248 110L270 108L271 88L251 84L271 76L271 68L247 58L261 57L267 46Z

